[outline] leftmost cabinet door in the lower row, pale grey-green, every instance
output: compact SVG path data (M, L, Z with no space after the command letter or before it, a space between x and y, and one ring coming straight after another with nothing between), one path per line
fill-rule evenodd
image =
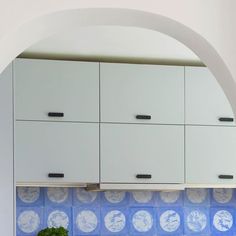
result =
M98 124L16 122L18 183L96 183ZM49 178L49 173L64 178Z

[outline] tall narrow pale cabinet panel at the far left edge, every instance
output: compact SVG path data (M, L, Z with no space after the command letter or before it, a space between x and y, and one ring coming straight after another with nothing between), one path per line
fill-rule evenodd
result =
M12 64L0 74L0 222L1 234L14 235L13 83Z

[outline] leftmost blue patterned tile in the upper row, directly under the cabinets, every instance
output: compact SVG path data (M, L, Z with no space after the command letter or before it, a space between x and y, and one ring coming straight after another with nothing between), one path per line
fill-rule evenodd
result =
M17 206L42 206L44 204L43 188L39 187L17 187Z

